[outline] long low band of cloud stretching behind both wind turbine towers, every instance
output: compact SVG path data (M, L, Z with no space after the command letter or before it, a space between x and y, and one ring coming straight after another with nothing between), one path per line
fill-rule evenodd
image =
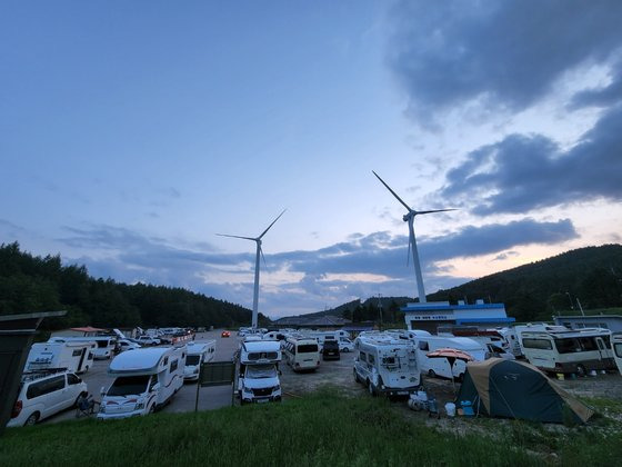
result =
M111 227L67 228L59 239L82 256L94 277L183 287L250 307L254 255L214 251L207 244L171 246L167 241ZM429 290L461 282L449 277L439 261L498 254L516 246L559 244L576 237L572 222L538 222L523 219L508 225L466 227L418 242ZM261 269L260 311L292 315L334 307L379 292L384 296L417 295L412 264L407 267L408 237L385 231L352 235L347 241L314 251L267 254ZM64 258L66 260L69 258Z

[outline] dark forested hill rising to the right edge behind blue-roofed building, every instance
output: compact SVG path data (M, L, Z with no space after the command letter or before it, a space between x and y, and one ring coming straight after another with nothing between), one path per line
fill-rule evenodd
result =
M566 294L568 292L568 294ZM428 296L428 301L478 298L504 302L518 321L550 319L578 308L622 307L622 245L571 250Z

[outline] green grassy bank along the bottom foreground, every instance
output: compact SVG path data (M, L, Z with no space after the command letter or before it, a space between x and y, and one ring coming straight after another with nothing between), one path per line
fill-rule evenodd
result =
M615 465L620 428L469 420L438 431L384 399L320 391L277 405L7 429L2 466ZM463 424L464 420L448 420ZM615 423L616 425L616 423Z

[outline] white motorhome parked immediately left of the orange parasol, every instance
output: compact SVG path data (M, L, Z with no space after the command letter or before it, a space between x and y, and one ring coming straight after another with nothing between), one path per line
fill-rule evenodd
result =
M354 340L354 379L371 395L408 396L420 384L417 350L410 340L377 335Z

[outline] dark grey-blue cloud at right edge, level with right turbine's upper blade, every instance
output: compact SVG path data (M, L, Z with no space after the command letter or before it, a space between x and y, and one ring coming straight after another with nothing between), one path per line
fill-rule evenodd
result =
M606 112L580 141L562 150L551 139L511 135L479 148L447 173L441 196L473 212L524 213L594 199L622 200L622 106Z

